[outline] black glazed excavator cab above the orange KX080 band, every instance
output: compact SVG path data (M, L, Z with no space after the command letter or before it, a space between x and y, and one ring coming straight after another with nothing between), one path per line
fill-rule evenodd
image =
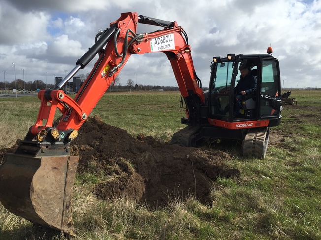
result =
M269 120L269 127L279 124L281 93L279 63L276 58L266 54L214 57L213 60L208 99L209 119L230 123L266 119ZM240 79L239 66L244 62L249 74L257 79L257 86L254 93L245 96L235 116L236 105L240 104L235 101L235 87Z

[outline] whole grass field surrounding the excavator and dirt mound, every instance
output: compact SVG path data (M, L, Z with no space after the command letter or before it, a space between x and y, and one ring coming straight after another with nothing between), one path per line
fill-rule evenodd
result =
M222 150L240 177L213 182L211 205L193 197L172 199L168 206L149 209L126 199L103 202L76 177L73 220L80 240L114 239L321 239L321 91L292 91L298 105L284 106L280 126L271 130L266 158L243 158L229 142L202 148ZM0 98L0 149L11 147L34 124L36 97ZM151 135L167 142L184 127L178 92L107 93L92 115L133 136ZM273 138L273 139L272 139ZM3 159L0 159L2 162ZM36 229L0 204L0 239L63 240L59 233Z

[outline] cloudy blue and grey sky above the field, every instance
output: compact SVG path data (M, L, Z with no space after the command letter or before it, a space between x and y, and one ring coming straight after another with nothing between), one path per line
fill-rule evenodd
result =
M0 0L0 82L16 72L16 79L53 84L124 12L176 21L203 86L213 56L265 54L272 46L282 88L321 87L321 0ZM138 24L137 33L157 29ZM132 55L118 76L122 85L177 85L164 53Z

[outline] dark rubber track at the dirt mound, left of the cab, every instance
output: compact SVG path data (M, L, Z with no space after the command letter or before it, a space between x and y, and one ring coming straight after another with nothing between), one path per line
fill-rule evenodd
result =
M187 126L173 134L171 144L178 144L183 147L193 147L194 134L200 130L200 127Z

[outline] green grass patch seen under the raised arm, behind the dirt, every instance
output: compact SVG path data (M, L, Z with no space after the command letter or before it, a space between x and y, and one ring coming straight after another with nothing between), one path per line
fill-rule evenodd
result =
M106 123L127 130L134 136L157 137L169 141L182 128L185 109L179 107L178 93L105 94L91 115L99 115Z

